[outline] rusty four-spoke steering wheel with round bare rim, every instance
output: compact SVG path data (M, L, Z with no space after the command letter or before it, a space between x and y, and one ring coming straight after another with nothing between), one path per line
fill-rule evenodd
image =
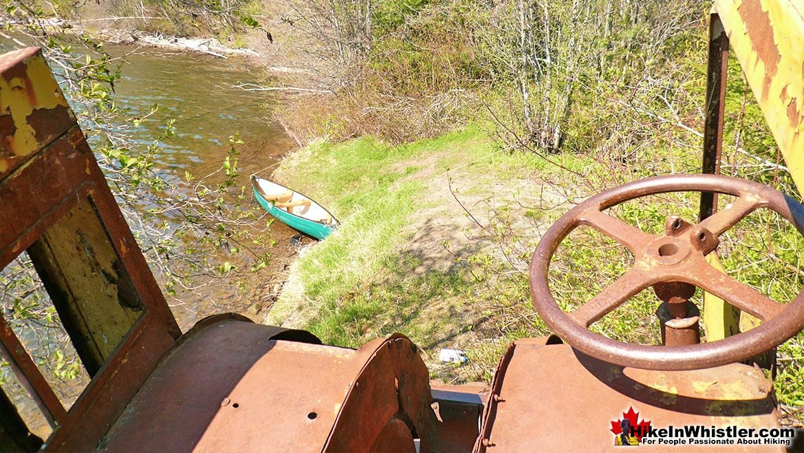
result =
M728 208L693 226L673 217L661 236L645 233L603 212L627 200L674 191L716 192L737 198ZM604 191L564 214L539 242L530 270L533 305L553 332L573 348L612 364L640 369L687 370L757 356L802 330L804 290L792 303L783 305L717 270L704 258L720 244L721 234L757 208L778 212L804 234L801 204L780 191L745 179L720 175L658 176ZM565 313L556 304L548 286L548 266L564 237L579 225L597 229L628 248L634 253L634 266L589 302L572 313ZM628 344L589 331L589 325L597 319L658 282L698 286L757 316L762 323L724 340L675 347Z

